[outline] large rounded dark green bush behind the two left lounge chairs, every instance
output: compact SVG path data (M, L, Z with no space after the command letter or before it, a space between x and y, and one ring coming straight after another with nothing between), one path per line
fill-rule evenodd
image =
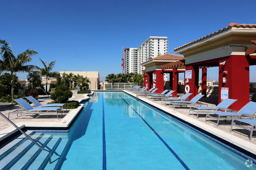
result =
M62 84L50 95L50 98L59 103L66 103L72 95L73 93L69 91L69 88L65 84Z

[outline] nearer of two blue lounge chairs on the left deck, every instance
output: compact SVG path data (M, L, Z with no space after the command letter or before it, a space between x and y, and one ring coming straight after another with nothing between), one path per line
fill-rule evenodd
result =
M14 101L19 103L25 109L25 111L17 110L16 112L9 112L8 119L9 119L10 113L17 113L17 114L18 113L26 113L26 114L56 113L58 119L59 119L58 112L61 112L62 114L62 109L60 107L33 108L32 106L30 106L30 104L28 104L22 98L14 99Z

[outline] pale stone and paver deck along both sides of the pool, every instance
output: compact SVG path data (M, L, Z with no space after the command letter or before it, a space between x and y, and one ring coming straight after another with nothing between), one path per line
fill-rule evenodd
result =
M124 91L136 97L135 93L131 93L131 91L128 91L128 90L124 90ZM72 92L73 92L73 97L70 100L77 100L80 102L84 99L88 99L87 94L77 94L76 91L72 91ZM39 102L41 104L47 104L48 102L52 101L51 99L46 99L45 96L40 96L40 97L41 98L39 98ZM163 104L161 104L160 100L152 101L152 100L149 100L149 98L145 98L142 96L140 96L139 99L256 155L256 133L252 135L252 140L250 141L249 140L250 132L248 130L242 130L241 128L234 126L232 132L230 132L231 121L227 121L227 122L220 121L219 126L217 127L216 120L211 120L211 118L209 118L210 121L205 122L206 114L204 113L199 114L198 119L196 119L196 116L193 114L195 112L192 112L191 115L188 115L189 108L181 107L181 108L173 109L173 108L169 108L169 106L164 106ZM202 99L202 101L204 100L205 99ZM215 107L216 105L208 104L208 106ZM16 105L8 108L2 108L0 109L0 112L3 113L6 117L8 117L9 112L13 110L17 110L19 108L21 108L21 106ZM51 114L51 115L36 114L32 116L18 115L18 117L17 117L17 114L10 114L10 120L20 128L23 128L25 126L26 127L67 128L69 124L73 121L73 119L75 119L75 116L78 114L78 112L81 109L82 109L82 105L80 105L78 108L73 110L67 110L67 111L65 110L65 113L63 116L59 114L60 119L57 119L57 115L55 114ZM17 131L17 129L14 128L9 122L7 122L2 116L0 116L0 124L1 124L0 141Z

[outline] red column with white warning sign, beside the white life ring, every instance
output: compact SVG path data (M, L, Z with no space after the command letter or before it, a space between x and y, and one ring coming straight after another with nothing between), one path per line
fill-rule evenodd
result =
M186 71L191 70L192 71L192 77L189 79L189 83L185 84L189 85L189 93L192 93L192 95L189 96L189 100L191 100L193 97L198 95L198 80L199 80L199 68L198 66L186 66ZM187 79L185 79L186 81Z

